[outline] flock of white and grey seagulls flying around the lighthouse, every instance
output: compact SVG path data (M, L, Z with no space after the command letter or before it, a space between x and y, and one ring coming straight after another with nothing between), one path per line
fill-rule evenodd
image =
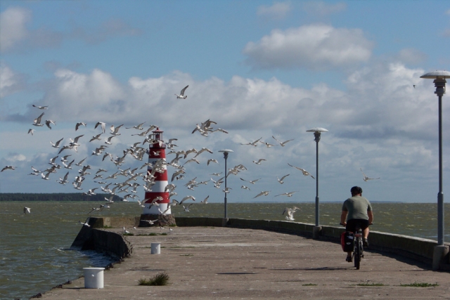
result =
M187 96L185 95L186 89L188 89L188 86L186 86L184 89L182 89L179 94L175 94L176 98L186 99L187 98ZM32 106L36 107L38 110L48 110L49 109L48 106L37 106L37 105L32 105ZM43 122L44 115L45 115L45 112L42 112L36 119L34 119L32 126L43 127L45 125L49 129L52 129L52 126L56 126L56 122L51 119L46 119ZM133 145L130 145L128 148L122 150L122 153L119 156L113 155L112 152L108 152L108 147L110 145L113 145L113 142L114 142L113 139L115 137L120 136L123 133L124 129L122 129L122 126L124 126L124 124L120 124L119 126L115 126L114 124L111 124L109 126L110 132L109 132L108 137L106 137L108 135L108 133L106 133L107 132L107 130L106 130L107 124L105 122L96 122L96 124L94 125L94 130L97 130L98 133L96 133L94 136L89 138L89 141L84 142L84 143L95 143L97 146L96 146L95 150L92 151L91 156L101 157L102 163L105 161L106 162L110 161L111 162L110 164L113 164L113 172L108 172L108 170L105 167L105 169L103 169L103 168L97 169L95 171L95 173L92 174L93 178L91 178L91 179L95 183L98 184L98 187L91 188L91 189L87 190L86 192L83 192L82 195L88 195L88 196L96 195L95 191L98 189L101 189L103 191L103 193L110 194L110 197L109 198L105 197L105 201L106 201L105 204L101 204L99 207L92 208L91 211L89 211L87 214L91 214L96 211L102 211L103 209L110 208L110 205L112 205L114 203L113 197L115 195L118 196L119 194L122 194L122 193L124 195L119 196L122 198L122 201L128 202L129 200L136 200L136 202L139 204L139 206L145 207L143 203L146 202L147 199L139 200L139 194L142 195L144 191L151 191L152 185L155 184L155 181L154 181L155 173L156 172L164 172L165 169L167 169L167 166L172 166L175 169L175 171L172 173L170 183L165 188L165 191L169 193L169 198L172 200L170 202L169 208L170 208L170 206L181 205L185 211L189 211L189 208L195 202L195 197L193 197L191 195L184 197L181 201L172 199L172 197L174 197L175 195L178 195L175 192L176 185L173 182L179 181L179 180L185 178L186 164L189 164L189 163L200 164L200 161L197 159L197 157L199 155L202 155L205 152L213 153L212 150L210 150L208 148L201 148L200 150L196 150L195 148L192 148L189 150L176 150L176 147L178 147L178 146L175 145L174 142L177 141L177 138L170 138L167 142L156 141L154 139L155 134L153 134L152 131L157 129L158 126L152 124L152 125L148 126L148 128L145 128L144 127L145 123L146 122L142 122L141 124L124 128L125 130L128 130L128 129L133 130L134 133L131 134L131 136L137 136L137 137L141 138L141 141L137 141L136 143L133 143ZM212 126L214 126L216 124L217 124L217 122L207 119L205 122L200 122L200 124L196 124L192 133L198 132L198 133L200 133L201 136L208 136L209 134L212 134L215 132L228 133L228 131L226 131L224 129L220 129L220 128L214 129ZM86 124L85 122L77 122L75 124L75 132L77 132L79 130L82 131L82 127L87 128L87 126L88 126L88 124ZM30 129L28 131L28 133L31 135L34 135L34 132L35 132L34 129ZM256 141L250 141L249 143L241 143L241 145L251 145L253 147L257 147L258 145L264 145L264 146L266 146L266 148L271 148L271 147L278 146L278 145L281 147L285 147L285 145L287 143L294 140L294 139L290 139L287 141L279 141L275 136L272 136L272 138L274 138L274 141L276 141L276 143L268 143L268 142L262 141L262 137L261 137L261 138L258 138ZM77 152L77 149L79 148L79 146L82 145L82 140L86 140L85 134L79 134L75 138L68 138L68 141L66 141L65 144L63 143L64 140L65 140L65 138L60 138L55 143L53 143L53 141L50 141L51 147L58 150L57 155L52 157L51 159L49 159L49 163L48 163L49 167L47 167L46 169L39 170L39 169L36 169L31 166L32 172L29 175L40 176L40 178L48 181L51 179L51 174L56 174L59 170L65 169L68 171L66 171L63 176L59 177L59 180L57 181L61 185L65 185L65 184L69 183L70 170L72 170L75 166L77 166L77 167L80 167L80 169L79 169L79 171L77 171L76 176L72 176L72 178L73 178L72 186L76 190L83 190L83 183L86 180L86 177L91 175L91 171L94 172L92 170L93 167L91 167L90 164L86 164L84 162L88 157L81 159L79 162L75 162L75 159L70 159L70 157L74 154L74 152ZM98 143L101 143L101 145L98 145ZM158 159L158 161L155 162L155 164L151 164L151 163L147 162L147 160L148 160L148 154L150 153L150 151L153 151L153 150L151 150L151 148L149 149L149 147L148 147L148 145L146 145L146 143L148 143L149 145L153 145L155 143L160 143L160 145L162 145L162 143L164 143L166 145L167 150L169 150L169 152L167 152L166 155L175 155L175 157L170 160L167 159L167 161L165 159ZM153 154L159 155L158 151L153 151ZM193 155L193 157L188 159L189 155ZM59 158L60 162L58 162L58 158ZM143 163L141 164L141 167L136 167L134 169L131 169L131 168L121 169L122 164L124 164L125 160L129 159L129 158L136 159L138 161L143 161ZM181 163L181 160L184 160L184 162ZM253 160L253 163L259 165L259 164L263 164L265 161L266 161L266 159L257 159L257 160ZM211 163L219 164L219 162L217 162L217 159L207 159L207 166L209 166ZM314 176L309 174L309 172L306 171L305 169L302 169L300 167L295 167L289 163L288 163L288 165L290 167L293 167L294 169L301 171L304 176L310 176L311 178L315 179ZM152 169L151 172L147 171L148 167L150 167ZM15 170L15 169L16 168L13 166L6 166L3 169L1 169L1 172L6 171L6 170ZM186 187L188 190L194 190L199 185L206 185L207 183L209 183L211 181L214 184L214 188L221 188L221 184L224 183L225 177L228 177L230 175L236 176L236 175L240 174L240 172L246 171L246 170L247 170L247 168L243 164L238 164L235 167L228 169L226 174L224 174L224 176L221 176L221 178L219 178L217 180L214 180L211 177L210 180L207 180L207 181L197 181L197 177L195 177L195 178L189 180L186 184L184 184L184 187ZM362 172L362 169L361 169L361 172ZM221 175L221 173L213 173L210 175L218 177ZM277 176L278 183L283 184L285 178L288 176L290 176L290 174L286 174L286 175L282 176L281 178L279 178ZM368 180L372 180L372 179L379 179L379 178L369 178L368 176L366 176L366 174L364 174L364 172L363 172L363 176L364 176L364 181L368 181ZM123 178L123 180L119 180L119 177ZM137 182L138 179L140 180L140 182ZM261 178L254 179L254 180L247 180L244 178L240 178L240 180L248 182L248 183L250 183L250 185L255 185L257 183L257 181L259 181L260 179ZM113 182L113 180L117 180L119 182ZM141 187L143 190L139 191L138 190L139 187ZM246 185L241 185L241 188L245 189L245 190L250 190L250 188ZM230 193L231 188L226 188L226 190L223 189L222 191L224 193ZM274 197L278 197L278 196L293 197L293 195L297 192L298 191L281 193L279 195L275 195ZM263 191L261 191L261 193L258 193L257 195L255 195L255 197L253 197L253 199L255 199L257 197L267 196L267 195L269 195L269 193L271 193L270 190L263 190ZM207 204L208 198L209 198L209 195L205 198L205 200L203 200L199 203ZM159 199L157 198L157 199L153 200L151 205L159 206L159 203L156 202L157 200L159 200ZM185 203L186 201L193 201L193 202ZM285 218L288 219L289 221L293 221L294 220L293 214L297 210L299 210L298 207L293 207L292 209L286 208L285 211L283 211L283 215L286 214ZM31 209L28 207L25 207L23 209L24 214L30 214L30 212L31 212ZM160 213L164 214L165 211L160 210ZM150 224L153 223L153 221L148 221L148 222ZM87 223L82 223L80 221L79 221L79 223L83 224L84 226L89 226Z

